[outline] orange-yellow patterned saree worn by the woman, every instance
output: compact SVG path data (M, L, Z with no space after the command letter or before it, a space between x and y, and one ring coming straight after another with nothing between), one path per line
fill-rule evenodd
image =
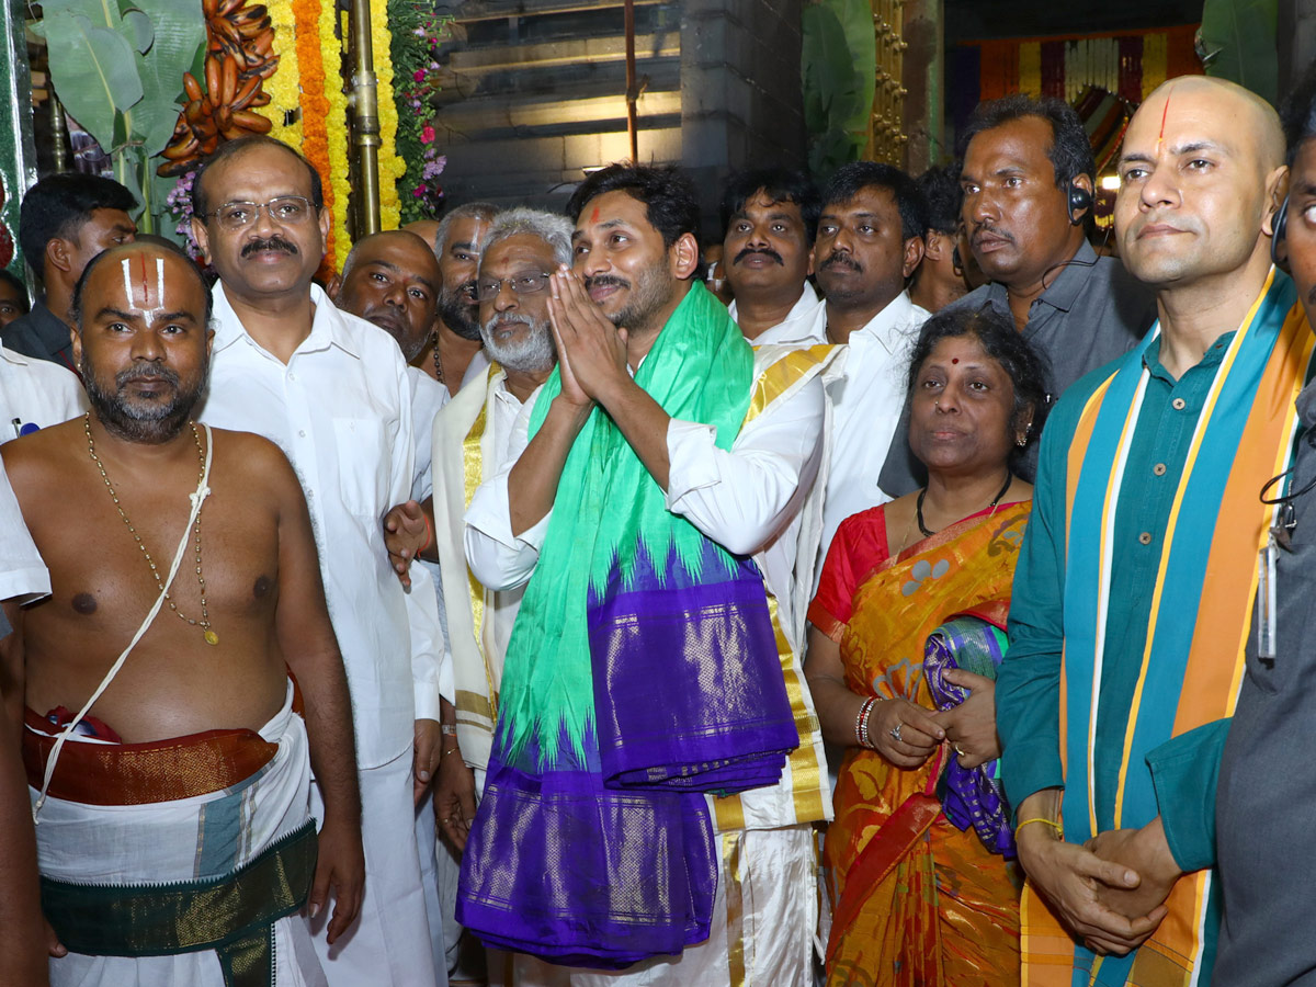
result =
M840 641L851 691L936 709L923 670L928 636L953 613L1008 600L1030 507L959 521L865 576ZM832 987L1019 976L1017 869L932 799L945 751L912 771L858 747L841 763L824 845L836 912ZM851 873L876 880L849 886Z

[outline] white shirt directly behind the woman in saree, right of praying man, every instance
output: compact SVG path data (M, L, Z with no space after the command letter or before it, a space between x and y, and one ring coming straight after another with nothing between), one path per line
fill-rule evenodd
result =
M901 291L862 329L850 333L845 376L828 388L836 409L832 422L832 467L822 503L822 547L850 515L891 500L878 487L891 437L904 407L909 350L930 313ZM815 325L826 333L826 308Z

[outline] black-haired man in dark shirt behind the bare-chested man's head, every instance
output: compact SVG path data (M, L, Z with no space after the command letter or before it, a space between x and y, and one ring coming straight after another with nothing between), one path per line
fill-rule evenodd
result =
M18 243L45 295L4 328L7 347L76 372L68 322L74 286L96 254L137 236L129 216L134 209L133 193L100 175L47 175L28 190L18 209Z

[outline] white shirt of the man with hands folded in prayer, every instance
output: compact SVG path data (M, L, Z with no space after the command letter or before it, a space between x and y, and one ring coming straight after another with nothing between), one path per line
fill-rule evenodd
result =
M715 445L712 425L672 418L667 425L667 509L734 555L753 555L774 540L794 545L791 525L822 454L824 401L822 382L811 380L747 422L729 451ZM466 512L466 558L475 578L495 590L529 580L553 516L550 511L520 537L512 534L507 480L529 443L533 408L528 401L517 416L503 468L480 484ZM786 599L791 553L783 547L761 555L759 562L767 588Z

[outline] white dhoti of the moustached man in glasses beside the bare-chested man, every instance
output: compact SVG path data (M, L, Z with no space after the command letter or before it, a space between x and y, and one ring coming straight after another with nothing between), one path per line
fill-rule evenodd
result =
M358 771L357 778L366 894L357 921L332 946L325 944L322 929L333 909L321 911L311 924L320 962L332 987L445 987L447 970L434 967L436 942L420 878L412 749ZM320 812L315 787L311 801L312 812ZM437 946L442 957L442 942Z

